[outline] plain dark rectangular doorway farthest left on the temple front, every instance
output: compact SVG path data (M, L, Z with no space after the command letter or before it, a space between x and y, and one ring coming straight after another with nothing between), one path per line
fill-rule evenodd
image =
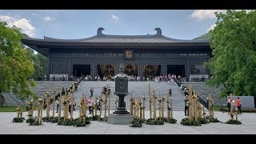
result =
M90 65L73 65L74 77L81 77L83 75L90 75Z

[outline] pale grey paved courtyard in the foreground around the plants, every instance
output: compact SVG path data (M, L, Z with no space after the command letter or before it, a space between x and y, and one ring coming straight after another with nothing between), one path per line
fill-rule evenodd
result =
M25 112L24 115L26 114ZM46 112L44 111L43 114L45 115ZM148 111L146 114L146 118L149 118ZM228 120L226 113L216 112L215 116L221 122ZM86 127L58 126L57 123L49 122L43 122L42 126L29 126L26 122L13 123L14 117L16 117L16 113L0 113L0 134L256 134L256 114L249 113L238 115L242 125L210 123L202 126L182 126L180 121L185 118L184 113L174 111L177 124L165 123L162 126L143 124L142 128L95 121ZM76 110L74 118L77 117L78 111Z

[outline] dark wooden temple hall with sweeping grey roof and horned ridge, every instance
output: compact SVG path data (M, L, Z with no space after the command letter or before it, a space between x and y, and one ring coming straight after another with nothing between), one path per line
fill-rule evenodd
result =
M91 75L114 76L120 63L125 73L145 78L161 74L190 77L191 74L210 74L203 66L211 55L207 39L182 40L156 34L102 34L82 39L24 38L22 43L49 58L48 75L67 74L80 77Z

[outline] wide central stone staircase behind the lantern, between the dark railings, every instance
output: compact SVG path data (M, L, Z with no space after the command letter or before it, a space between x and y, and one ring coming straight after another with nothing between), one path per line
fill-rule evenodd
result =
M114 81L82 81L80 85L78 86L78 91L74 93L74 99L75 102L78 104L80 101L80 98L82 97L82 93L85 94L86 98L89 98L90 96L90 88L94 88L94 95L93 99L95 100L95 96L99 96L102 92L103 86L110 86L110 89L112 91L110 96L110 110L115 109L115 98L118 98L118 96L114 95L115 90L115 83ZM168 90L172 89L172 100L173 100L173 110L174 111L182 111L184 110L184 94L181 93L181 89L175 84L172 83L168 85L167 82L150 82L150 91L151 91L151 98L153 97L153 90L155 90L155 94L158 98L159 94L168 94ZM133 94L134 98L142 98L142 95L145 94L146 102L145 106L146 109L149 109L149 101L148 101L148 95L149 95L149 82L128 82L128 92ZM130 111L130 94L125 97L126 102L126 110ZM165 103L165 110L166 110L166 103ZM158 107L158 102L157 102ZM77 107L76 107L77 108Z

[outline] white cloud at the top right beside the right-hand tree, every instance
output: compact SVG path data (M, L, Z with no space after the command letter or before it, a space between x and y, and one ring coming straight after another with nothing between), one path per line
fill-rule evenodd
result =
M225 13L226 10L194 10L193 14L191 15L192 18L198 18L199 20L207 19L207 18L215 18L215 12L222 12Z

